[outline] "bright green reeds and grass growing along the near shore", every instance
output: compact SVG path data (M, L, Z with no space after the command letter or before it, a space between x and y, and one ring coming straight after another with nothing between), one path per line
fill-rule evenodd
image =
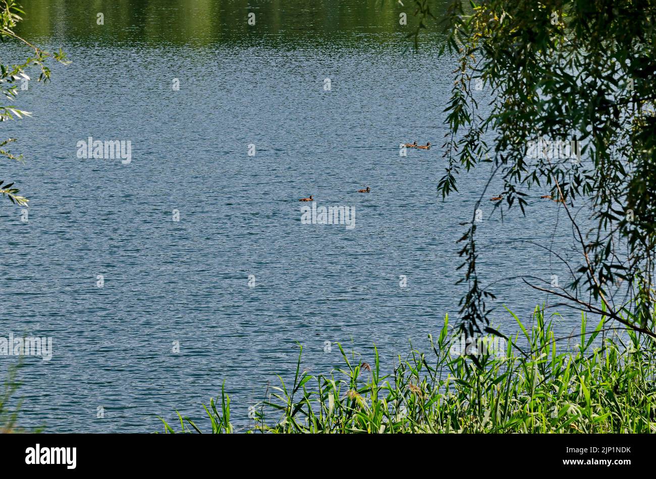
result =
M607 317L588 330L582 314L573 347L558 352L556 343L567 338L555 336L543 308L535 309L528 328L510 314L520 332L502 357L451 355L446 316L439 337L429 336L430 353L411 351L390 375L380 375L377 350L373 364L360 364L341 346L342 368L311 375L300 370L301 347L293 381L280 377L269 399L249 410L247 432L656 432L650 337L619 330ZM225 385L217 400L203 405L209 429L178 413L179 423L159 417L165 432L239 432L230 422Z

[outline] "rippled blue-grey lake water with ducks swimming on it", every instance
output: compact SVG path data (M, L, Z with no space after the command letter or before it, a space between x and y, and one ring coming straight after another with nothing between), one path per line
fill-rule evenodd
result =
M160 431L157 415L178 410L207 428L201 403L223 381L245 427L267 382L293 379L298 343L313 372L340 365L335 343L369 362L376 345L389 370L410 341L427 351L446 313L457 320L459 223L488 171L463 177L447 201L437 194L454 69L438 58L440 35L414 54L398 3L272 4L28 5L20 33L73 63L21 92L15 104L33 119L2 125L26 157L3 162L2 179L31 201L28 222L7 199L0 209L0 335L53 341L50 361L24 358L24 427ZM131 163L79 159L89 136L130 140ZM414 140L435 147L400 157L400 142ZM308 195L354 208L355 227L302 224ZM527 319L546 297L504 278L565 277L528 240L571 237L554 234L564 212L539 195L503 222L483 203L482 278L499 281L493 318L510 334L501 304ZM578 322L558 327L569 334ZM16 362L0 360L3 372Z

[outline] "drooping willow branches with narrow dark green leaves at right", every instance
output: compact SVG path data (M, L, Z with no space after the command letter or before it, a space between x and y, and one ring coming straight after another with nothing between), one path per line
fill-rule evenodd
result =
M459 174L483 163L491 163L507 208L524 212L529 191L548 188L572 223L580 256L567 263L567 288L529 284L656 337L646 322L656 265L654 13L653 0L452 1L443 52L458 62L440 191L454 193ZM527 143L541 138L578 140L580 161L527 158ZM589 212L589 231L575 208ZM470 334L489 324L485 301L493 297L476 273L475 235L472 220L460 251L468 285L461 317ZM616 302L619 280L629 291ZM642 313L630 311L637 305ZM630 313L637 320L624 322Z

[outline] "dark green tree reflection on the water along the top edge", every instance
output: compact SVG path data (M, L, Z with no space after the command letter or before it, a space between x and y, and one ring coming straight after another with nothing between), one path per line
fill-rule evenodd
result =
M440 14L447 1L435 3ZM102 13L104 25L97 24ZM407 25L401 25L405 13ZM254 17L249 17L254 14ZM255 22L249 24L249 18ZM70 41L154 43L299 43L321 38L356 44L361 35L406 35L417 26L414 7L393 0L37 0L30 2L20 32L29 37L63 35Z

